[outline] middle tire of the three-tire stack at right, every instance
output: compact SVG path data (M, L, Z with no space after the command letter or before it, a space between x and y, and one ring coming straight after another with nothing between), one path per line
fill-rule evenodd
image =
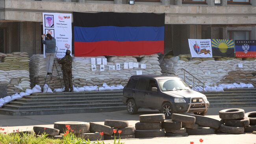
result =
M243 117L243 119L226 119L225 126L233 126L233 127L246 127L249 126L249 118L247 116Z

